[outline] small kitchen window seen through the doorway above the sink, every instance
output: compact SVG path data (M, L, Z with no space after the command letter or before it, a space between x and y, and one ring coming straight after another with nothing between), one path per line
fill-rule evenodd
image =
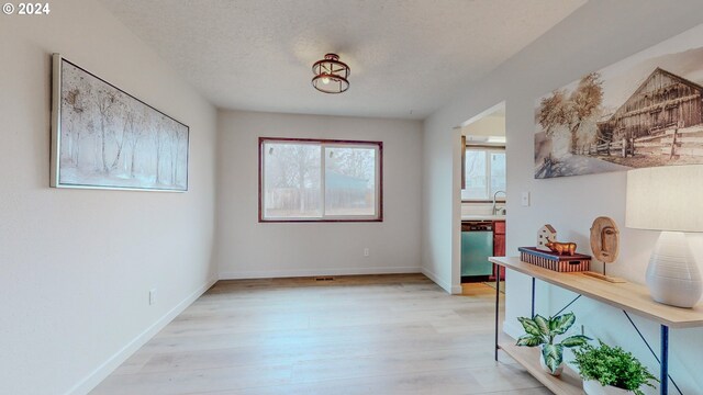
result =
M504 148L467 146L465 160L466 187L461 200L492 200L495 192L505 191Z

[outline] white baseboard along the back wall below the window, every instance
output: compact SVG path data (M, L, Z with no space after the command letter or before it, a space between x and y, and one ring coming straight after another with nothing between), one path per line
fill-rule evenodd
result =
M386 267L386 268L348 268L348 269L300 269L300 270L266 270L266 271L224 271L220 272L220 280L275 279L315 275L362 275L362 274L401 274L421 273L420 267Z

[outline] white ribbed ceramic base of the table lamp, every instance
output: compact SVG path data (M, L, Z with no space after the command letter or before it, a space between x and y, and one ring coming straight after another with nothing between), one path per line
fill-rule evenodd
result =
M699 302L703 280L683 233L661 233L649 258L647 285L659 303L690 308Z

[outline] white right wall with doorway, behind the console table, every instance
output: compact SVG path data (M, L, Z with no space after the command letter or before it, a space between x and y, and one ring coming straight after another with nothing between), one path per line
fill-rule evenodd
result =
M506 100L507 134L507 255L518 246L534 245L536 229L553 224L559 237L573 240L588 251L590 225L599 215L621 225L620 263L612 273L643 282L657 234L624 226L624 172L535 180L533 133L535 99L634 53L674 36L703 22L700 1L590 0L572 15L507 60L480 82L467 87L425 121L423 160L423 269L439 275L439 284L458 284L459 267L459 136L453 127ZM522 191L532 193L532 206L520 206ZM692 207L701 210L701 207ZM692 237L699 257L703 242ZM454 275L453 275L454 274ZM445 286L446 287L446 286ZM539 285L537 312L554 314L571 294ZM504 330L515 336L515 317L529 315L529 281L515 273L507 278ZM587 334L631 349L652 370L656 363L637 339L622 312L580 300L572 306ZM635 317L658 349L658 326ZM672 330L671 375L687 394L703 393L703 379L695 373L703 351L703 329ZM670 386L671 388L671 386ZM654 392L651 392L654 393Z

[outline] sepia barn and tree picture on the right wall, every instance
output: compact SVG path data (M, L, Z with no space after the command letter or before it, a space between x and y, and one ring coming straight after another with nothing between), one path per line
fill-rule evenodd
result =
M703 25L535 105L535 178L703 163Z

